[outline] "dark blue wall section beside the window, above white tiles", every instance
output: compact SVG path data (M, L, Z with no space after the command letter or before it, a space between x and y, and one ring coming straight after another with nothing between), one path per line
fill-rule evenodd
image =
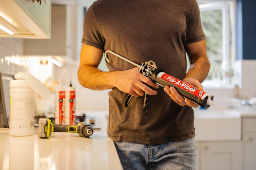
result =
M237 0L237 59L256 59L256 0Z

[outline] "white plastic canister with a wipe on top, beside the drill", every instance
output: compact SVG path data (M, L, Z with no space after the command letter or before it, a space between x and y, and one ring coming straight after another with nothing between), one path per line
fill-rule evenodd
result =
M34 135L35 92L26 80L10 80L10 136Z

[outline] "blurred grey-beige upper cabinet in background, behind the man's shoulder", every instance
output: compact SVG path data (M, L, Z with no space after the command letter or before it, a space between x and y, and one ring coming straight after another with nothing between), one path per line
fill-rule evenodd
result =
M24 39L23 55L58 55L79 60L83 21L83 7L52 4L51 39Z

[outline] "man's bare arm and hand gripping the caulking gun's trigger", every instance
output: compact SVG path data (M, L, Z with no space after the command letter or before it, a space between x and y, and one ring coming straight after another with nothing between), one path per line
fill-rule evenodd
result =
M80 52L80 65L78 69L79 83L89 89L105 90L117 87L125 93L135 97L144 95L144 92L150 95L156 95L156 91L147 85L158 88L158 85L152 82L150 78L142 75L139 68L135 67L125 71L103 72L98 69L103 50L86 44L82 45ZM143 84L146 83L147 85Z

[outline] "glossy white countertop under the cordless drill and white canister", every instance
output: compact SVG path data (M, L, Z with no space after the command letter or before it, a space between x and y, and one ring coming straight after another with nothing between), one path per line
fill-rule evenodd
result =
M0 169L2 170L119 170L122 169L113 141L107 136L106 115L101 117L101 130L90 138L77 133L53 132L48 139L33 136L9 136L0 129ZM104 120L105 119L105 120Z

